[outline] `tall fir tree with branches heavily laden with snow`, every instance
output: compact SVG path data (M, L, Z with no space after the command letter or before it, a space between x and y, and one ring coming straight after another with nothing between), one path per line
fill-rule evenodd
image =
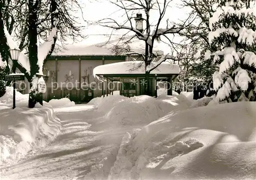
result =
M256 101L256 7L248 0L217 0L209 19L209 43L218 71L213 76L218 102Z

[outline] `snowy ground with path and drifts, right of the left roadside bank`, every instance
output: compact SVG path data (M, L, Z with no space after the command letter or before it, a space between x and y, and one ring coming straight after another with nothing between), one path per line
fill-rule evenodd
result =
M255 179L255 102L207 102L117 94L56 106L56 139L3 167L2 178Z

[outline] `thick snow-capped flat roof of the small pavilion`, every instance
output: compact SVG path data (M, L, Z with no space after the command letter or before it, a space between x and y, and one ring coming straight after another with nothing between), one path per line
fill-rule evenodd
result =
M153 68L157 63L152 62ZM151 74L179 74L180 66L169 62L162 62ZM93 69L93 75L113 75L113 74L145 74L144 61L125 61L111 64L99 65Z

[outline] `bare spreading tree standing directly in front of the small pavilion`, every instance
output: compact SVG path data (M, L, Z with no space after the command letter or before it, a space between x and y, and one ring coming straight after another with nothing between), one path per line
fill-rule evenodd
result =
M99 20L99 25L103 27L112 28L113 30L127 30L126 33L120 38L120 42L125 39L125 36L130 32L133 32L134 35L125 40L124 43L127 43L137 37L140 40L144 41L145 44L145 53L138 55L142 56L144 64L145 64L145 79L147 84L145 85L145 94L149 95L149 80L150 80L150 72L153 71L157 66L165 61L166 59L174 58L173 56L168 56L168 58L162 58L161 61L158 61L158 65L154 68L150 68L151 62L153 62L156 58L154 55L154 43L155 41L163 41L162 37L164 37L165 41L168 43L173 43L170 39L170 34L184 33L183 30L187 24L187 21L184 22L181 26L169 26L169 22L167 21L166 27L161 28L160 24L165 21L164 16L168 7L172 3L172 0L120 0L120 1L111 1L110 2L117 7L120 8L120 11L124 12L125 20L124 22L118 22L113 18L104 18ZM138 13L138 11L142 13ZM151 23L150 14L153 11L158 11L157 22L154 24ZM135 16L137 13L137 16ZM142 17L143 16L145 17ZM154 17L156 18L156 17ZM145 28L134 27L133 20L145 21ZM163 55L162 55L163 56ZM159 58L159 57L157 57Z

